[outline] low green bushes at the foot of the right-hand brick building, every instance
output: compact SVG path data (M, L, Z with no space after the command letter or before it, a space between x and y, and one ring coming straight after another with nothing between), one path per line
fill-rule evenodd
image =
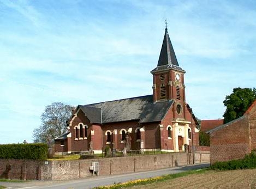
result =
M253 151L242 160L231 160L224 162L216 162L211 165L213 170L234 170L234 169L254 169L256 168L256 154Z

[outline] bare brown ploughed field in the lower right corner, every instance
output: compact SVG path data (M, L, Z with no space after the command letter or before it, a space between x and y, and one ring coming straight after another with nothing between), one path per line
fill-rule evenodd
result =
M256 169L208 170L201 174L129 188L256 188Z

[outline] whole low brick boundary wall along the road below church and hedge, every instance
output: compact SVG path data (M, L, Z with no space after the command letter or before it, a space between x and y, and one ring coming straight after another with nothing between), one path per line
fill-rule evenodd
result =
M184 166L192 163L191 157L192 155L187 153L169 153L73 161L0 159L0 176L7 179L29 180L78 179L92 176L89 166L92 166L93 161L99 162L99 175L114 175ZM209 161L210 154L195 153L195 163Z

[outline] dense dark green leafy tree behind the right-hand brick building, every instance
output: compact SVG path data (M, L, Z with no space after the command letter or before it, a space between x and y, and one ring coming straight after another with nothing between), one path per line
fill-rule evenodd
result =
M233 93L227 95L223 101L227 107L223 114L224 123L228 123L236 118L241 117L249 106L256 99L256 89L253 88L234 88Z

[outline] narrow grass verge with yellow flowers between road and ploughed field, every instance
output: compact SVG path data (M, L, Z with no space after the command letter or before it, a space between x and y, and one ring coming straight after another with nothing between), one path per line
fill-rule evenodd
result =
M188 170L188 171L182 172L182 173L157 176L157 177L149 178L149 179L138 179L138 180L131 180L131 181L127 181L127 182L117 183L114 185L99 186L99 187L95 187L93 189L118 189L118 188L126 188L126 187L137 186L137 185L146 185L146 184L151 184L154 182L163 182L166 180L179 178L179 177L187 176L190 174L201 174L201 173L205 173L206 170L208 170L208 169L206 168L206 169L198 169L198 170Z

